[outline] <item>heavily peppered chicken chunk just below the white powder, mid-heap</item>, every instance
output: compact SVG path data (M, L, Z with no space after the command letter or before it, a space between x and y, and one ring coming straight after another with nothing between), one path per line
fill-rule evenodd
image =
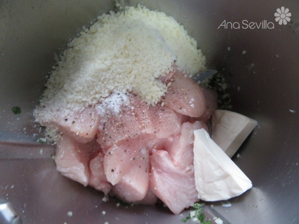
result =
M136 95L130 94L129 97L130 105L121 106L119 114L101 117L97 133L101 147L107 148L143 133L153 133L148 105Z

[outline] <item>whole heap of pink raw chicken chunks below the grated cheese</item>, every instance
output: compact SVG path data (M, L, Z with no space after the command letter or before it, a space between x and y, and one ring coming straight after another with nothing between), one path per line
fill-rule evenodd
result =
M56 149L57 170L126 202L153 205L159 198L174 214L193 206L198 201L193 131L208 130L217 95L175 66L159 80L168 89L155 106L130 93L124 96L130 103L113 108L120 109L118 113L105 112L99 104L101 111L85 108L48 121L49 127L63 132Z

